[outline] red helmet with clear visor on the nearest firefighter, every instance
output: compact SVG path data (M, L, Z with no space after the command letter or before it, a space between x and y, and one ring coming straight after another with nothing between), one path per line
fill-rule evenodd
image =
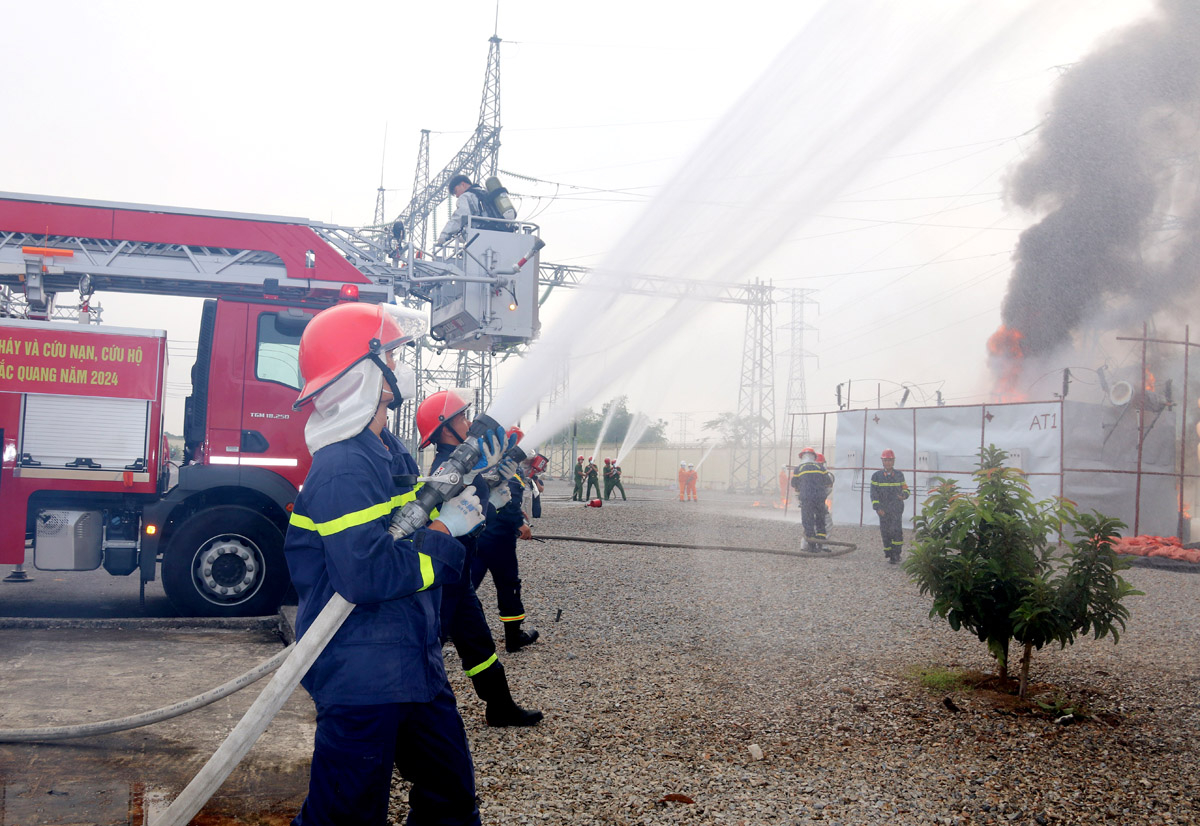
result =
M413 336L379 304L338 304L318 312L300 336L304 389L293 409L300 409L362 359L383 357Z

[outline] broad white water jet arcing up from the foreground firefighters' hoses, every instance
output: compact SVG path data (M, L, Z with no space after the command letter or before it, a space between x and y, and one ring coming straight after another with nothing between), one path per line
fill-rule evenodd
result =
M1060 4L1051 1L1050 5ZM934 23L914 19L884 0L827 2L754 88L718 120L679 174L661 187L640 221L618 241L602 265L581 279L568 306L547 325L542 339L522 360L496 396L488 414L517 420L551 389L556 367L572 367L574 403L587 405L612 384L629 364L653 359L661 335L636 334L593 360L580 351L578 331L596 325L622 329L638 318L661 329L690 321L684 305L700 300L679 292L670 298L641 298L644 275L662 282L718 283L728 274L751 274L788 234L840 194L870 166L918 126L967 77L1004 54L1025 30L1033 28L1026 2L961 6ZM859 71L858 55L882 55L884 65ZM930 54L940 60L929 60ZM839 84L798 84L796 77L820 71ZM815 122L812 112L822 116ZM785 186L786 182L786 186ZM756 286L769 291L769 285ZM619 295L620 291L628 294ZM768 313L755 327L758 342L773 330ZM774 390L764 370L767 359L746 354L739 408L769 414L774 426ZM582 376L581 381L576 377ZM544 417L532 443L558 432L570 420ZM542 430L545 432L542 432ZM774 479L763 473L762 448L769 435L754 441L758 455L738 459L742 484ZM761 447L760 447L761 445Z

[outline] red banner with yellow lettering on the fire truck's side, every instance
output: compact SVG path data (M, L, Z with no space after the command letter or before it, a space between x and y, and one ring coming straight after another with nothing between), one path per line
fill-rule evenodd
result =
M158 397L163 337L0 322L0 393Z

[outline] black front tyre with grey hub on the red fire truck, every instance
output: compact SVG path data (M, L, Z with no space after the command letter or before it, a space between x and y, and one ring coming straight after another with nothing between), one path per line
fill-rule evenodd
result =
M162 587L185 617L276 613L290 581L283 534L250 508L193 514L163 552Z

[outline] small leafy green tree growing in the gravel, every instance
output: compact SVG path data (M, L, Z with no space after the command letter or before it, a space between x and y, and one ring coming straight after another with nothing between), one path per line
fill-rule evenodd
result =
M980 451L973 492L938 479L917 516L905 570L932 597L930 616L988 645L1001 677L1010 642L1024 645L1025 696L1034 648L1067 647L1088 633L1116 642L1129 617L1121 600L1141 592L1117 575L1128 563L1111 540L1124 525L1079 514L1066 499L1034 501L1025 474L1004 467L1007 457L996 445ZM1055 538L1068 532L1074 541L1056 557Z

